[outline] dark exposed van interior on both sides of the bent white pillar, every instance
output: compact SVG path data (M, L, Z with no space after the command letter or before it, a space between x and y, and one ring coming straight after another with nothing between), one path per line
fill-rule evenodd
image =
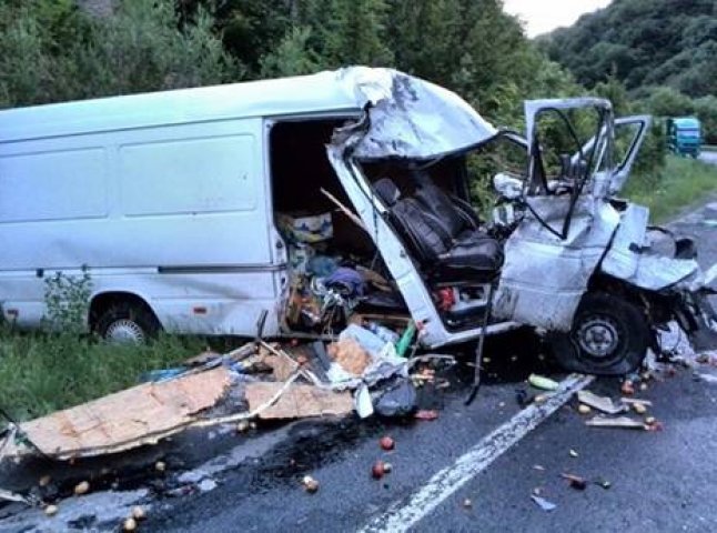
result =
M286 121L270 135L275 224L289 249L282 326L333 334L349 322L408 320L405 303L326 158L341 120ZM281 155L279 155L281 154ZM465 159L363 167L446 328L475 328L503 261L467 202ZM342 211L339 204L351 213ZM353 214L353 217L352 217Z

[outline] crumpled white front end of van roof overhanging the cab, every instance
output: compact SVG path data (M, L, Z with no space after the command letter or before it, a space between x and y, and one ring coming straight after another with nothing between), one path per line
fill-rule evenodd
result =
M393 69L351 67L336 71L367 121L337 131L334 145L360 160L427 159L493 138L497 130L461 97Z

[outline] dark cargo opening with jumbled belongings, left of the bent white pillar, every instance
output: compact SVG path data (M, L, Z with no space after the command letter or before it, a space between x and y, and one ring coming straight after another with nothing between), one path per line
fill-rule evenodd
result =
M343 122L279 122L270 134L274 222L289 250L286 333L332 335L373 319L398 330L408 323L401 293L326 157Z

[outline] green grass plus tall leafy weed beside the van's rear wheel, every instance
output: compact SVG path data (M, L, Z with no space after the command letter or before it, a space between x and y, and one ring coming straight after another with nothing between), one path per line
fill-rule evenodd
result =
M201 351L196 339L161 336L145 345L110 344L87 332L92 275L46 278L43 331L0 323L0 409L28 420L120 391L142 373ZM0 420L0 428L2 428ZM7 421L4 421L7 422Z

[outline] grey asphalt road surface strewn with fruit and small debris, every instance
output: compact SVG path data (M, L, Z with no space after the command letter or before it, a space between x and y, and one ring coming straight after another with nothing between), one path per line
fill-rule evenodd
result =
M697 238L704 266L717 262L716 220L717 198L673 224ZM541 354L528 334L493 339L488 381L472 405L463 402L467 366L446 372L450 389L422 390L421 406L440 412L434 421L352 419L200 432L127 455L109 477L98 474L108 467L102 461L65 467L61 490L92 472L91 496L62 500L51 520L18 505L0 507L0 531L117 531L135 503L149 512L141 531L395 531L402 529L396 523L408 523L402 521L426 532L717 531L717 384L696 380L703 373L717 381L717 369L666 372L638 391L654 402L648 414L663 431L588 428L570 400L525 432L516 401L525 378L565 379ZM619 395L616 379L588 389ZM507 433L485 442L506 425ZM378 446L386 434L396 441L392 452ZM166 473L154 472L156 459L166 462ZM393 465L382 480L371 476L376 460ZM37 465L32 475L43 469ZM578 491L563 473L610 487L590 483ZM303 490L304 475L319 481L315 494ZM538 507L535 491L556 509Z

